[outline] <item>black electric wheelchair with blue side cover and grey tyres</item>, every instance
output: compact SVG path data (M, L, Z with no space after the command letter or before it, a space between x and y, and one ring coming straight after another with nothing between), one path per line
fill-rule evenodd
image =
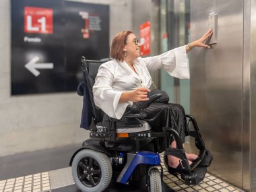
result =
M154 132L143 120L146 117L143 109L160 98L161 94L154 94L146 102L129 106L130 110L120 120L108 117L96 107L92 87L102 63L104 61L82 57L84 82L80 84L77 93L84 96L84 102L87 102L84 107L87 113L92 114L92 123L89 115L90 139L84 141L82 148L73 154L69 163L77 187L81 191L98 192L104 191L113 179L117 183L129 184L146 177L148 191L162 191L161 152L164 152L164 164L170 174L176 177L180 175L186 185L197 185L202 181L207 166L212 162L212 155L205 148L195 119L186 115L191 125L187 127L193 127L193 130L187 128L186 135L195 137L195 146L199 150L199 164L191 167L177 131L165 127L162 132ZM177 148L169 148L167 138L170 137L177 141ZM168 154L180 158L182 170L168 168Z

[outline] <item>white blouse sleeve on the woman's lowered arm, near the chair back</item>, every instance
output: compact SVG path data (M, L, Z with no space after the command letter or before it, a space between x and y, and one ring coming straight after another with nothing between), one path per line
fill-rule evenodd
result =
M114 75L105 66L100 66L93 87L94 103L101 108L106 115L115 119L121 119L127 105L132 102L119 103L123 91L113 90Z

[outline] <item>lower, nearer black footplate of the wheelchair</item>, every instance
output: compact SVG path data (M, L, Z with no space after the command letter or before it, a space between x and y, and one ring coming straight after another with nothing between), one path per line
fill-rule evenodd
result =
M181 174L181 179L185 181L185 185L197 185L203 181L206 172L206 167L197 167L191 174Z

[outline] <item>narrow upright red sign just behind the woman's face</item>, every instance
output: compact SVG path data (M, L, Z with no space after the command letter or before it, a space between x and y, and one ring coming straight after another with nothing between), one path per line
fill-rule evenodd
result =
M150 22L140 26L141 55L150 54Z

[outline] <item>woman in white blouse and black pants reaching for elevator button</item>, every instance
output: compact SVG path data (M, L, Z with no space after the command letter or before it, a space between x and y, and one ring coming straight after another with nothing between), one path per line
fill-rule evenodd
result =
M189 79L189 61L187 53L194 47L209 49L204 44L212 35L212 30L201 38L177 49L172 49L155 57L141 58L141 44L135 34L130 31L120 32L115 36L110 47L110 58L98 69L93 87L94 102L109 117L121 119L128 105L133 102L148 100L148 92L152 79L150 72L164 67L173 77ZM156 131L162 127L172 127L178 131L185 142L186 118L180 104L152 103L145 109L147 121ZM173 125L173 122L177 126ZM176 148L176 141L170 147ZM186 154L189 164L197 159L195 154ZM168 156L168 166L177 168L179 158Z

